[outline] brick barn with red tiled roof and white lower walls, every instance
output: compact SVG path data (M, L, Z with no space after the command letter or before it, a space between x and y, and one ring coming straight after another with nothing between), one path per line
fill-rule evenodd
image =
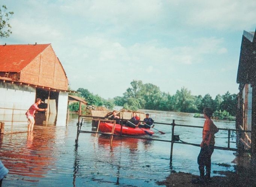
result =
M0 45L0 114L23 114L41 98L66 114L68 78L51 44ZM1 121L1 119L0 119Z

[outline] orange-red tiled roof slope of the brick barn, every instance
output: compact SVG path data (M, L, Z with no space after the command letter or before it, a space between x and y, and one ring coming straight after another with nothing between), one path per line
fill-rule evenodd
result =
M0 72L20 72L49 45L0 45Z

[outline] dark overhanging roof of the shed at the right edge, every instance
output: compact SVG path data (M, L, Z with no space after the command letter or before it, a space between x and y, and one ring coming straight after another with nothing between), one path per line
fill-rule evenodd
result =
M256 83L256 35L255 32L244 31L242 36L237 83Z

